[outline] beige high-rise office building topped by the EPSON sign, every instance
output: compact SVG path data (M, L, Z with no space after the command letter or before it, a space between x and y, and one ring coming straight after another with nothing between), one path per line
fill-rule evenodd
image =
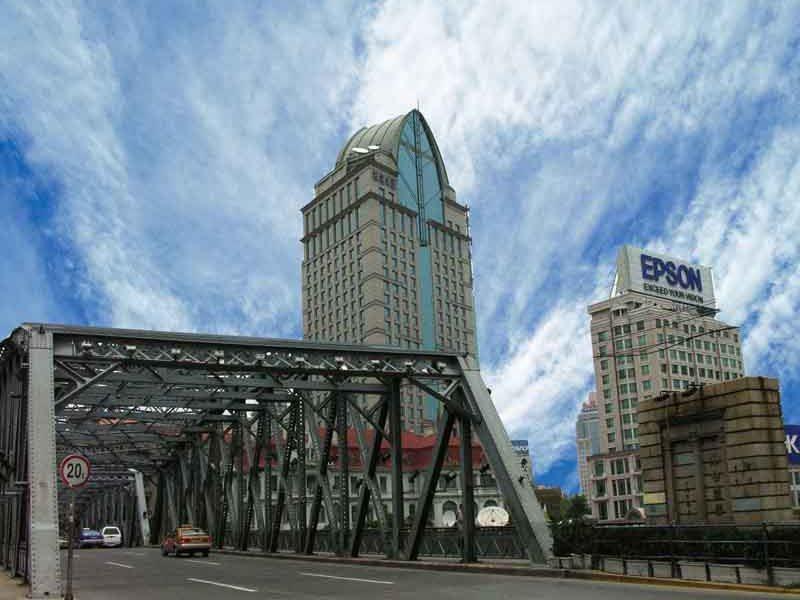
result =
M592 515L620 521L643 506L639 399L743 377L741 343L715 318L710 268L632 246L619 252L611 297L588 312L600 432Z

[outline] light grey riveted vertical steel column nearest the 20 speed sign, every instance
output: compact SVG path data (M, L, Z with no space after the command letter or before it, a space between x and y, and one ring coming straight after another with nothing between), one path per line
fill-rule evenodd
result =
M53 334L29 331L28 349L28 581L31 598L61 595L56 486Z

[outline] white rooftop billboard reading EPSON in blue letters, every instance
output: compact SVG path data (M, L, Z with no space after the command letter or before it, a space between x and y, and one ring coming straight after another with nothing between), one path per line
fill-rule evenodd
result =
M623 246L619 251L616 288L618 292L642 292L716 308L710 267L634 246Z

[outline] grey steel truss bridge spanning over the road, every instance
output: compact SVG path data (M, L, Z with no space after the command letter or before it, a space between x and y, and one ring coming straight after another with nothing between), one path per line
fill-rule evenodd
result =
M403 526L403 386L422 390L441 409L410 528ZM338 442L348 429L363 465L353 515L354 457ZM366 551L366 533L375 538L366 528L372 505L385 555L415 560L456 434L463 560L476 558L477 436L522 548L531 561L544 562L552 547L544 515L470 357L24 324L0 344L0 562L26 577L31 597L60 596L58 537L69 493L56 465L69 453L93 465L78 494L79 523L121 524L128 544L158 543L191 522L207 528L217 545L275 552L288 535L293 550L311 554L324 535L326 548L355 557ZM306 464L307 444L319 457L313 464ZM376 477L386 461L391 513ZM339 475L338 486L330 485L329 472ZM329 525L318 535L323 509Z

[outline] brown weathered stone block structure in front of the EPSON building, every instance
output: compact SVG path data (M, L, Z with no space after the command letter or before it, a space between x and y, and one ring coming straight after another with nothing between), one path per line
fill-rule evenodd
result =
M777 379L744 377L643 400L639 429L648 521L792 518Z

